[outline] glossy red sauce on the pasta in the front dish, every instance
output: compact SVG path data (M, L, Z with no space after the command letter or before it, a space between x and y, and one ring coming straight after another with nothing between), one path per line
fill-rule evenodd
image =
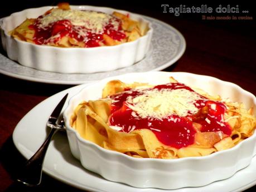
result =
M183 88L194 92L190 87L183 83L167 83L153 88L157 88L158 90L163 88L170 90ZM153 88L148 88L147 90ZM201 99L194 103L199 109L199 112L196 114L189 114L185 117L170 115L161 120L153 117L142 119L138 116L134 117L134 113L136 112L130 109L126 103L128 96L134 98L141 94L142 93L138 90L131 89L110 96L113 102L111 105L109 125L123 127L120 131L124 132L130 132L137 129L149 129L156 135L160 142L177 149L194 144L196 129L192 125L193 122L202 125L201 132L223 131L226 135L231 134L231 127L224 122L226 107L221 102L207 100L205 97L200 96ZM216 107L211 107L212 104L216 105ZM207 108L207 114L201 115L200 113L203 107L204 109L205 107Z

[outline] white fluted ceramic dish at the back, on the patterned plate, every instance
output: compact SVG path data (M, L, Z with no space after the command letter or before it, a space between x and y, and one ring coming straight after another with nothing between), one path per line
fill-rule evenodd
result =
M35 68L41 71L59 73L95 73L113 71L124 68L141 61L149 50L153 28L149 21L146 21L138 14L122 11L108 7L94 6L70 6L71 9L84 9L100 11L112 14L114 11L129 14L129 16L148 25L146 35L136 41L122 43L116 46L101 46L90 48L63 48L45 45L35 45L25 41L17 40L8 35L8 32L17 27L26 18L37 18L52 7L40 7L25 9L21 12L11 14L3 19L2 43L7 55L11 60L18 61L23 66Z

